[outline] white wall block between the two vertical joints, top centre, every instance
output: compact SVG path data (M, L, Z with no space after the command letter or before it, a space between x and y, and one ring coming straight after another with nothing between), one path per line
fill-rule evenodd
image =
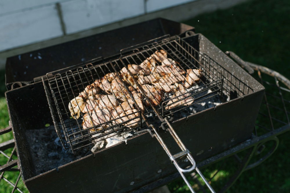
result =
M61 3L68 34L144 14L142 0L73 0Z

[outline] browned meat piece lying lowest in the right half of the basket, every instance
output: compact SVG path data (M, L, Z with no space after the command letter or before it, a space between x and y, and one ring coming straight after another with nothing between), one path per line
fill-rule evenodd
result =
M167 103L168 106L166 106L165 109L172 109L176 106L181 106L181 105L188 106L192 104L194 101L194 98L190 96L190 93L186 93L186 92L187 92L186 90L181 90L181 91L177 91L174 95L172 95L172 98L174 99L168 101Z

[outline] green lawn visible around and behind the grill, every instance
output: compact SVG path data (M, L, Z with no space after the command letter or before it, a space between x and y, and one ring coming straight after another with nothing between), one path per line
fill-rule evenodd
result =
M290 78L290 1L249 1L227 10L218 10L184 21L204 34L222 51L233 51L246 61L264 65ZM8 112L4 98L4 71L0 71L0 128L8 126ZM0 143L12 138L8 133L0 136ZM276 152L261 165L244 172L228 192L290 192L290 133L279 136ZM7 153L9 150L6 151ZM11 152L11 149L10 149ZM243 153L242 153L243 154ZM242 156L242 155L241 155ZM7 159L0 155L0 165ZM213 176L223 162L216 163L202 172ZM212 185L221 188L235 172L233 158L214 177ZM18 173L6 172L5 177L16 181ZM19 187L23 190L22 181ZM168 185L172 192L187 192L181 180ZM0 181L0 192L11 191L6 182ZM27 190L26 190L27 191Z

